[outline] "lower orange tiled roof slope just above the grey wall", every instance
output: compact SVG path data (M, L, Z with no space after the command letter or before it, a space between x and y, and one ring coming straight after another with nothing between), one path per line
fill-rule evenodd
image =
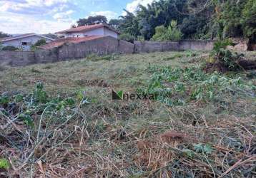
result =
M69 37L69 38L61 38L56 41L51 41L50 43L39 46L41 49L49 49L56 48L59 46L63 46L64 43L81 43L84 41L92 41L94 39L103 38L104 36L87 36L87 37Z

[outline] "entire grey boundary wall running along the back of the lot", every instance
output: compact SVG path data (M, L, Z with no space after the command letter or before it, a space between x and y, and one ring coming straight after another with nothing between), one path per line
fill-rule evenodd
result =
M28 66L85 58L89 54L151 53L156 51L210 51L214 41L156 42L135 41L135 44L104 36L82 43L66 43L58 48L41 51L0 51L0 66Z

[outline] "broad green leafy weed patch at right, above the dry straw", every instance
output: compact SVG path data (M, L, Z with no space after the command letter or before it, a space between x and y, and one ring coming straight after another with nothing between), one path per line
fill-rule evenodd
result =
M219 73L207 74L200 68L170 68L149 66L152 72L146 88L138 88L139 93L157 95L157 100L169 106L185 105L193 101L216 102L221 95L242 95L241 90L252 90L256 86L245 83L242 78L231 78ZM248 93L250 95L250 92Z

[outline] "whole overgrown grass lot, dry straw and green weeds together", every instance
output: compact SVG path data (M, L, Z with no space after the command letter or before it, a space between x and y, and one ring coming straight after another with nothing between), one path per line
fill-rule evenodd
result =
M256 73L205 73L207 56L0 67L0 177L255 177Z

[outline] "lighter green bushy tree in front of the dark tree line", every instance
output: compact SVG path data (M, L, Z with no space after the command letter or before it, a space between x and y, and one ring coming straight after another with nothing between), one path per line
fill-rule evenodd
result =
M177 28L177 21L172 21L168 28L157 26L153 41L179 41L182 38L181 31Z

